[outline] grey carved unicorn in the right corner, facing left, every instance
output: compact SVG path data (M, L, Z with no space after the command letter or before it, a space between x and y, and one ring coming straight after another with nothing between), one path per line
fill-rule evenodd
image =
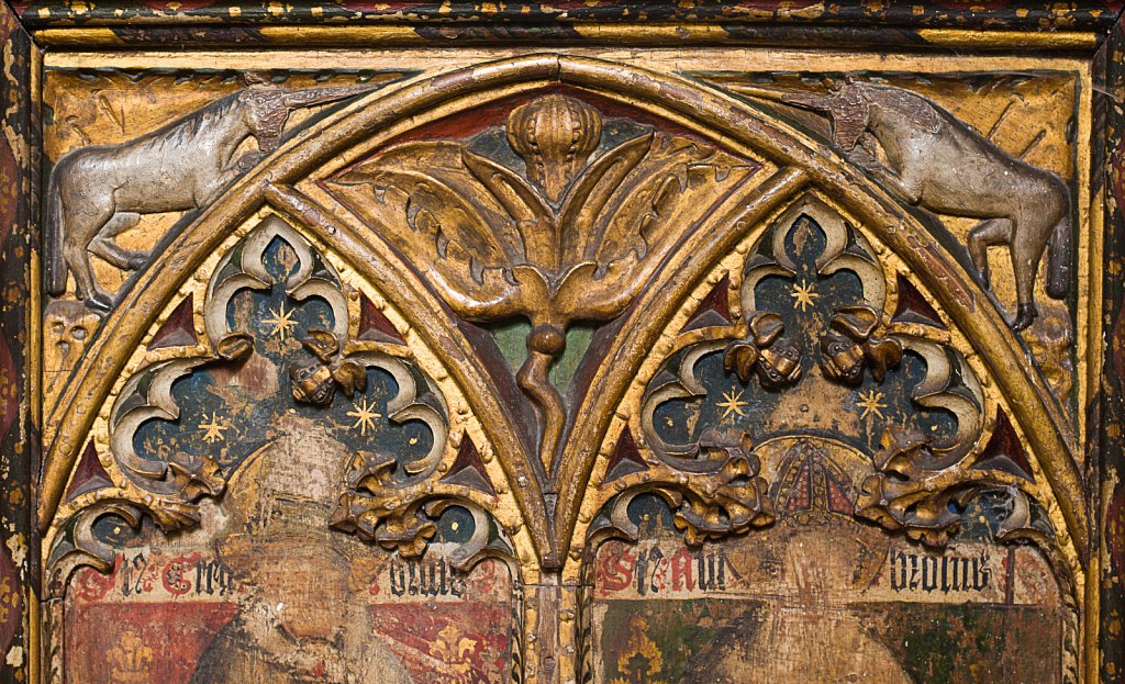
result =
M1037 315L1035 279L1044 250L1047 294L1066 297L1073 261L1070 192L1058 176L1009 155L933 101L900 88L848 81L827 96L783 101L827 111L835 143L848 159L906 201L982 219L969 233L969 254L990 288L988 248L1008 246L1018 304L1012 330L1026 328ZM873 154L874 142L883 163Z

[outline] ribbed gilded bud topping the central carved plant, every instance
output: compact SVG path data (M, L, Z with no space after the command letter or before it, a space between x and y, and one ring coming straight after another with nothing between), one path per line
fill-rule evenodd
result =
M550 94L512 110L507 142L528 164L528 178L557 202L602 137L602 117L573 98Z

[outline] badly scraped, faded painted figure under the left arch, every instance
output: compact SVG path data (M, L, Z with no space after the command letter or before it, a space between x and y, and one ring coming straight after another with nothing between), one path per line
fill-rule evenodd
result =
M294 421L231 482L218 552L250 594L191 683L411 684L361 600L371 549L327 526L346 453Z

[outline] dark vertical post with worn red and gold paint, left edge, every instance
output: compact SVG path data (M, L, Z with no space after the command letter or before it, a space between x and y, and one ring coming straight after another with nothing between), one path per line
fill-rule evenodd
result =
M0 682L36 681L38 602L32 480L38 448L34 226L38 144L33 116L36 48L0 4Z

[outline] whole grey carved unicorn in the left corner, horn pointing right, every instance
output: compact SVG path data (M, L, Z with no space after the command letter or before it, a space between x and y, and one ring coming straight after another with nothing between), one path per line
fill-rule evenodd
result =
M112 303L90 267L97 254L136 270L150 254L122 249L115 237L143 214L206 206L250 165L281 143L289 114L371 90L368 86L287 89L246 76L248 88L119 145L82 147L55 164L47 187L47 291L62 295L66 273L75 294L93 309ZM258 152L235 159L253 136Z

